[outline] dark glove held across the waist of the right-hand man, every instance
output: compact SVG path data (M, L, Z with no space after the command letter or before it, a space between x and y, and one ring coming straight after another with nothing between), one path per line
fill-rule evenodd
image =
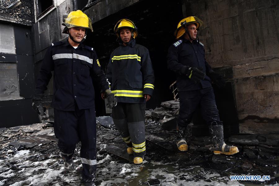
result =
M204 79L205 73L203 73L202 69L198 69L196 67L184 66L181 69L181 74L186 75L189 79L194 81L195 83L201 82Z

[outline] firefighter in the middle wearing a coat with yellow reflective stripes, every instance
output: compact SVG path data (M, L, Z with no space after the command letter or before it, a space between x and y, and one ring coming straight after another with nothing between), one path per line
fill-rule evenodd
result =
M127 153L134 154L134 163L140 164L146 149L145 104L154 90L154 72L148 49L136 44L135 24L128 19L119 20L114 32L120 46L111 53L107 68L107 78L117 98L112 118L128 146Z

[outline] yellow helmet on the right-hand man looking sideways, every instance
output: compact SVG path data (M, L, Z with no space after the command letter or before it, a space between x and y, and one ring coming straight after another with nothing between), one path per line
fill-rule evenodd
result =
M184 26L186 26L187 24L196 24L197 29L198 29L202 26L203 22L195 16L189 16L189 17L186 17L183 20L179 21L179 23L177 25L177 29L175 30L175 33L174 33L176 39L183 36L183 34L185 33Z

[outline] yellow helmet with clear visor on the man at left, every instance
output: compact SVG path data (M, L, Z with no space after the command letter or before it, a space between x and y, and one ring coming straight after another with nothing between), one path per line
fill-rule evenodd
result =
M71 11L68 17L64 19L62 25L66 26L68 29L72 27L82 27L90 29L91 32L93 32L91 20L80 10ZM62 33L67 33L67 29L64 29Z

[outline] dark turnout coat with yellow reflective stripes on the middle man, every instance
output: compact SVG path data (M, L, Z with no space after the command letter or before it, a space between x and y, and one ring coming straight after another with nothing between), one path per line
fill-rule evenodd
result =
M152 96L154 71L149 51L136 44L134 38L124 46L116 48L110 55L107 78L117 102L144 103L144 94Z

